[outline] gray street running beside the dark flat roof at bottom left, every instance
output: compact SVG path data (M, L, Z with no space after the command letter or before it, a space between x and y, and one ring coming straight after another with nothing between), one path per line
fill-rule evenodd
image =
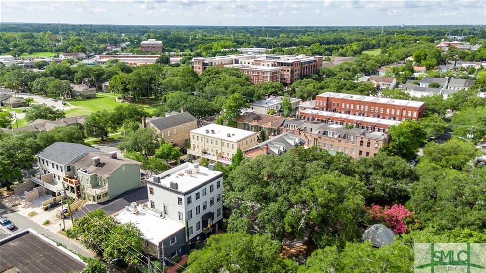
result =
M0 213L2 217L7 217L17 226L17 228L12 231L14 234L22 230L31 228L38 233L44 235L45 237L63 244L66 248L72 250L73 252L79 253L86 257L94 257L94 254L84 247L81 247L80 245L71 242L67 238L45 229L44 227L33 222L32 220L18 214L15 210L3 205L3 203L1 203ZM3 238L5 235L5 232L1 231L1 237Z

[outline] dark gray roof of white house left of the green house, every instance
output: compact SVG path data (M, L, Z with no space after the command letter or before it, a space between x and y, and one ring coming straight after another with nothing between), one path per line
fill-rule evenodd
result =
M86 145L69 142L55 142L44 150L36 154L37 157L50 160L60 165L65 165L71 162L78 156L85 153L102 153L98 149L88 147Z

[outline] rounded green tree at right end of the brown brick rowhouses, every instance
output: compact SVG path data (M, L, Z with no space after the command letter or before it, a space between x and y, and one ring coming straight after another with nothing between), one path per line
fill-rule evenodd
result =
M415 158L427 134L422 125L413 120L405 120L389 129L391 141L381 150L407 160Z

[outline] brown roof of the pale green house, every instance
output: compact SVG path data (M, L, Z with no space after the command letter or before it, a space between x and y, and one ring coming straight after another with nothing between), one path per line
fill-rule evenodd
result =
M101 157L97 166L93 165L93 157ZM80 160L73 163L73 166L84 169L99 176L108 177L118 168L125 164L141 164L140 162L123 157L111 158L108 153L88 153Z

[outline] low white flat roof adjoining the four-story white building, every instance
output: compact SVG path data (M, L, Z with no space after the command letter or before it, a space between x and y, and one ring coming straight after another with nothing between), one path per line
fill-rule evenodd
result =
M142 232L143 238L151 243L159 243L172 234L185 228L184 223L174 221L169 218L162 218L155 213L138 206L139 214L136 215L130 211L123 210L115 215L115 219L122 224L132 222Z

